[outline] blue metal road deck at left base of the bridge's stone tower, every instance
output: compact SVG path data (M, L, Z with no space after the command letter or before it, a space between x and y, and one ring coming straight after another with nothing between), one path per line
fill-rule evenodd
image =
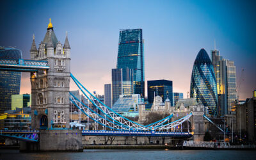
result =
M0 130L0 136L15 138L22 141L38 142L39 131L36 130Z

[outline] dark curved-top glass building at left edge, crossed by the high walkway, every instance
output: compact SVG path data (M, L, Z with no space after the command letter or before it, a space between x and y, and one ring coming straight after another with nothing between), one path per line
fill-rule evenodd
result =
M19 60L21 51L13 48L0 48L0 59ZM0 70L0 113L12 109L12 95L20 93L20 72Z

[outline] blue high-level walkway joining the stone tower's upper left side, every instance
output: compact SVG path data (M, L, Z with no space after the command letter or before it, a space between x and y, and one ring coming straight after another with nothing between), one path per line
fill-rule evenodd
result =
M37 72L40 69L49 69L47 61L36 60L0 60L0 70L17 71L17 72Z

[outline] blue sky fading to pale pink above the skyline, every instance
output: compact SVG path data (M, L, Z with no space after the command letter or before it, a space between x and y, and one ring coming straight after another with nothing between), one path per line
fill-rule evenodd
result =
M216 40L221 56L234 61L239 99L246 99L256 89L255 8L255 1L1 1L0 46L17 47L29 60L33 34L38 47L51 18L62 44L68 31L72 74L104 94L120 29L142 28L146 93L148 80L167 79L186 98L196 55L204 48L211 56ZM22 72L20 93L31 92L29 75Z

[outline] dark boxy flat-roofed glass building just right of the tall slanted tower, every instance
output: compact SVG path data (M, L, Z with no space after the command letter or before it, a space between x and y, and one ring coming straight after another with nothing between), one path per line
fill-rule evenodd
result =
M163 100L166 100L168 97L171 101L171 106L173 106L172 88L172 81L164 79L148 81L148 102L152 104L154 102L154 96L159 95Z

